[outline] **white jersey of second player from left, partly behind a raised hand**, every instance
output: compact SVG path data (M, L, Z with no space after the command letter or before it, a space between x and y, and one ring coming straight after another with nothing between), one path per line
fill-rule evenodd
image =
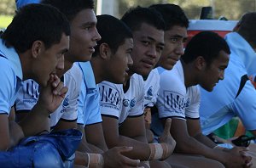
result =
M50 126L55 126L59 120L77 120L78 98L82 81L82 73L77 64L64 74L64 86L68 87L67 94L54 113L50 115ZM39 87L38 83L32 80L22 82L22 87L18 92L15 101L16 111L31 110L38 102Z

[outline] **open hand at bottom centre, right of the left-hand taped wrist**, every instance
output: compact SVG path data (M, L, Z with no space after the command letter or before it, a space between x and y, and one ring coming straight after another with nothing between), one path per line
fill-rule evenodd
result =
M104 167L137 167L140 160L131 160L122 153L130 152L132 147L114 147L103 153Z

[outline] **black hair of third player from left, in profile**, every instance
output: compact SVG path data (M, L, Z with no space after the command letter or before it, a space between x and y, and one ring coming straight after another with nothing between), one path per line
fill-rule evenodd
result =
M99 47L104 42L115 53L119 46L125 43L126 38L132 38L131 29L123 21L108 14L98 15L96 18L96 29L102 39L97 42L96 51L92 56L96 56L99 53Z

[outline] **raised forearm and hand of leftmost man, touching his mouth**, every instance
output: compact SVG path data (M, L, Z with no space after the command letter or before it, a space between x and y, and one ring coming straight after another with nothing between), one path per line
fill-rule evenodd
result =
M20 121L20 126L24 135L33 136L44 130L49 131L49 115L61 104L67 87L63 87L58 76L50 76L48 86L41 89L38 103L24 120Z

